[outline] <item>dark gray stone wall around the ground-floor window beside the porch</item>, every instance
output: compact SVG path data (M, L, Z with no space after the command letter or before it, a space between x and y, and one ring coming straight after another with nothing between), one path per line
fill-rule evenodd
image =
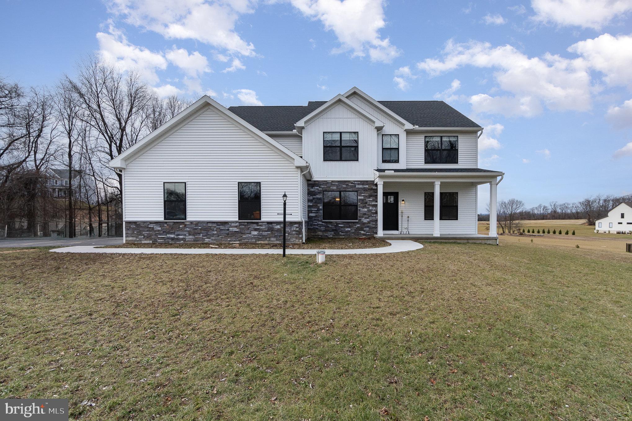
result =
M323 191L357 191L357 221L323 221ZM372 181L308 181L307 237L372 237L377 234L377 185Z

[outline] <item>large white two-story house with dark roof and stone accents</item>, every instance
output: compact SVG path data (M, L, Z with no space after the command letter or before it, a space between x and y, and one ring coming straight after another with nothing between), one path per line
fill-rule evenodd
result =
M226 109L204 96L109 165L123 174L128 242L280 242L285 192L289 242L497 244L504 173L478 168L482 131L445 102L358 88L307 106ZM477 234L479 184L490 184L489 235Z

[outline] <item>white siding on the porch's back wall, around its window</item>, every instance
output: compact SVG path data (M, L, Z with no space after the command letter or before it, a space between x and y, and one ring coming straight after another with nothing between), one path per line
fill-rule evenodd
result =
M434 221L423 219L423 196L425 192L434 191L432 182L384 182L384 193L399 193L398 221L404 211L403 225L406 229L407 216L410 234L432 235ZM471 183L442 182L441 191L459 194L459 216L456 221L441 221L441 235L477 234L477 187ZM405 204L401 205L404 199Z

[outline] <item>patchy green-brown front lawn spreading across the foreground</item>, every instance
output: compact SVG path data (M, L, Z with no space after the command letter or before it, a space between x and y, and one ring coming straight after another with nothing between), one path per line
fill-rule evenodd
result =
M0 398L82 420L630 417L629 256L314 260L2 253Z

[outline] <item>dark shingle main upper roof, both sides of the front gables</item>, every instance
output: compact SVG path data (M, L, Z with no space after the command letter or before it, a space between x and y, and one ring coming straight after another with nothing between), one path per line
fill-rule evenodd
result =
M443 101L378 101L404 120L419 127L480 127ZM260 131L292 131L294 124L325 101L307 105L260 105L229 107Z

